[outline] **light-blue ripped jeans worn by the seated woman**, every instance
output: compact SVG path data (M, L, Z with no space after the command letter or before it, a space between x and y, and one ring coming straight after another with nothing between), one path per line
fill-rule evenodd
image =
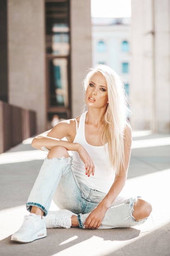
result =
M71 157L46 158L31 190L26 208L31 211L32 206L39 207L46 216L53 199L59 209L76 213L79 227L83 229L87 216L105 195L106 193L90 189L77 181L71 170ZM137 198L117 197L106 211L99 229L132 227L144 223L146 219L135 221L132 216L135 202Z

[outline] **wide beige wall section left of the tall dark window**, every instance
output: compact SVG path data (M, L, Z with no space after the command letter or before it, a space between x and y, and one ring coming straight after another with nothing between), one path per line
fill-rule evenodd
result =
M37 112L45 130L44 1L8 0L9 103Z

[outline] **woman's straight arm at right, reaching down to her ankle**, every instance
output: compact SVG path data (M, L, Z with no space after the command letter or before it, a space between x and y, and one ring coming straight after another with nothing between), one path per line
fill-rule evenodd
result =
M131 143L132 143L132 132L130 126L125 130L125 139L124 139L124 152L125 152L125 163L124 168L120 169L119 175L116 175L113 185L108 191L106 197L98 204L98 206L91 212L85 222L86 229L97 229L104 218L104 215L113 203L115 198L119 195L123 189L128 172L128 166L130 161L131 153Z

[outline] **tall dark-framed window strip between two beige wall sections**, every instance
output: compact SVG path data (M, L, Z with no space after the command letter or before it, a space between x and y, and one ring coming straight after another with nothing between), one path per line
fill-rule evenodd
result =
M71 114L69 2L45 0L46 112L49 128L51 120L69 119Z

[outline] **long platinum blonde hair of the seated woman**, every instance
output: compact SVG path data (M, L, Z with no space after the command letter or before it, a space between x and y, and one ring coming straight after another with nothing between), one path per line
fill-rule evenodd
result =
M103 144L108 142L110 163L119 174L124 166L124 130L127 125L127 99L125 97L123 80L110 67L98 64L90 69L84 79L86 91L91 76L95 72L101 72L107 83L108 106L104 115L104 131L102 134Z

